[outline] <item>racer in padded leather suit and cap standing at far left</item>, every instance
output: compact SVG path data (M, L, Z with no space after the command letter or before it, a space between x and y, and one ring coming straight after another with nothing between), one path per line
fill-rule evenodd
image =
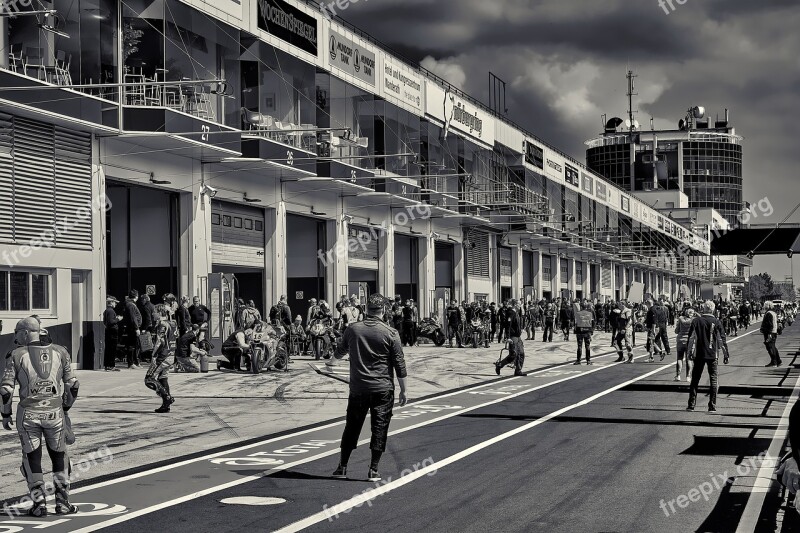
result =
M53 462L56 514L78 512L69 503L70 466L67 458L65 412L78 397L78 380L72 374L69 352L63 346L42 342L39 322L25 318L14 329L19 345L6 356L0 383L3 428L11 430L11 402L19 383L17 431L22 442L22 474L28 482L33 507L30 516L47 515L47 496L42 475L42 438Z

